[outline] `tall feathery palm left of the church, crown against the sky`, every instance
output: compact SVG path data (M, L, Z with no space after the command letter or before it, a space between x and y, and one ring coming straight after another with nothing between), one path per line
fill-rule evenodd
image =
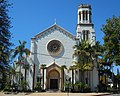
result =
M28 56L30 54L29 49L25 48L25 44L26 44L26 41L21 42L19 40L19 45L11 51L13 53L12 59L18 56L18 63L20 65L20 69L19 69L20 73L21 73L21 66L23 64L22 60L24 59L23 55ZM21 83L20 81L21 81L21 74L19 74L19 84Z

